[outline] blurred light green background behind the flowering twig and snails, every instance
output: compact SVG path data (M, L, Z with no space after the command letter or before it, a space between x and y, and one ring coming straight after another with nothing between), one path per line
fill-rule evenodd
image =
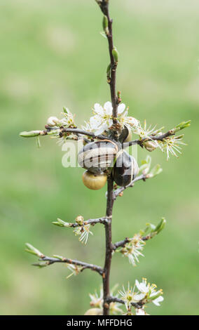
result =
M113 240L132 236L145 223L167 219L165 230L144 248L132 268L116 254L111 285L147 277L163 288L161 307L149 314L198 313L198 11L197 0L110 0L114 41L120 53L118 89L130 115L167 129L192 120L183 154L153 164L160 176L139 182L114 208ZM73 221L103 216L105 191L83 186L82 169L64 169L56 140L22 139L20 131L42 129L62 107L77 124L94 103L109 100L107 41L94 0L1 0L0 4L0 313L1 315L82 315L88 293L101 279L85 270L66 279L64 265L41 270L24 251L29 242L48 255L60 254L102 265L104 228L96 225L87 246L72 230L55 227L57 217ZM146 151L139 150L139 161ZM153 305L153 304L152 304Z

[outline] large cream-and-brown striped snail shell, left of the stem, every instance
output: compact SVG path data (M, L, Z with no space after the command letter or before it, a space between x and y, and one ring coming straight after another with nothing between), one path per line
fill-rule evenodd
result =
M78 164L92 173L101 173L114 165L118 145L111 140L88 143L78 153Z

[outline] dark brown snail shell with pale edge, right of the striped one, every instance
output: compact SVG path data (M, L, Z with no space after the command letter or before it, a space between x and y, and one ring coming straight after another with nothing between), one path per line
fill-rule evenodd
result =
M120 150L116 157L113 176L117 185L125 187L129 185L139 171L137 161L125 150Z

